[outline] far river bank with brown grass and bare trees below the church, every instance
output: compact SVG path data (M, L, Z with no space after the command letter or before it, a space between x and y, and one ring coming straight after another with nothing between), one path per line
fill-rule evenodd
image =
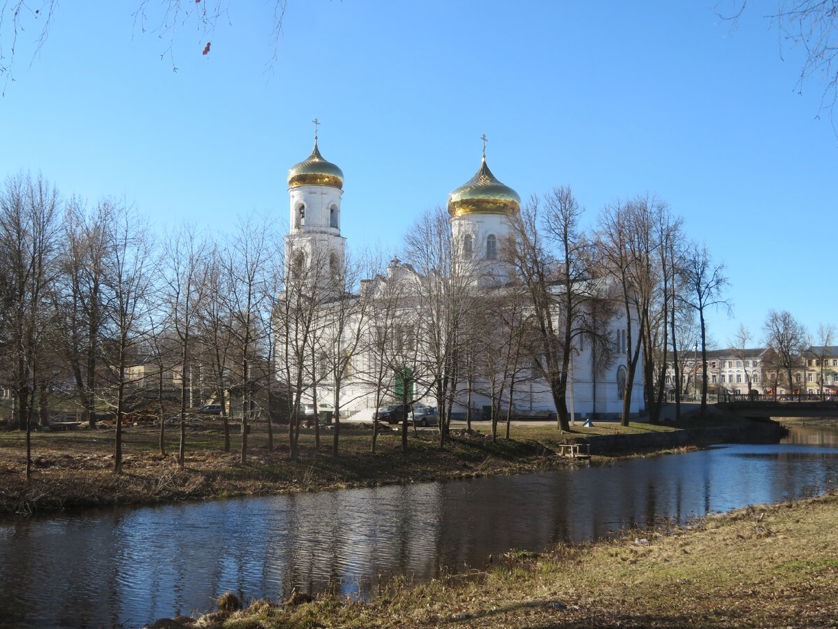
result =
M268 450L266 427L256 424L242 465L235 437L234 450L224 452L220 423L204 421L189 427L181 468L173 454L159 454L156 427L131 426L125 429L120 475L111 473L112 429L44 432L33 434L34 470L29 482L23 475L23 435L7 432L0 434L0 515L525 474L577 465L577 460L556 455L563 443L587 441L594 454L592 464L603 465L614 456L748 439L765 429L766 424L735 416L701 422L688 418L680 425L577 426L566 433L554 426L523 425L513 426L511 439L499 436L494 442L486 433L463 431L442 450L434 431L411 430L405 454L401 435L393 431L380 434L372 454L370 430L349 424L341 433L338 457L329 450L328 430L323 431L319 448L312 431L306 430L299 458L290 460L287 436L275 433L275 448ZM177 451L173 439L167 451Z

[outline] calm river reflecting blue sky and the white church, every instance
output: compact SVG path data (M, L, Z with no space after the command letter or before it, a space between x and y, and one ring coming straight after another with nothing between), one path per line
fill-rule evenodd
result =
M838 429L545 474L87 511L0 522L0 626L142 626L232 590L367 596L631 524L838 486Z

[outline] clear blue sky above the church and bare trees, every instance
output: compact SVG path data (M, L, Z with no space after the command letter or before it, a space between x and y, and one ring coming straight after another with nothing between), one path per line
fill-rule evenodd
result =
M343 235L389 248L474 174L486 133L522 199L571 185L591 222L618 198L667 200L727 265L719 346L739 323L759 337L772 308L813 333L838 323L838 139L818 79L795 90L801 53L763 17L772 3L731 33L712 3L289 0L272 71L272 2L231 3L209 37L178 25L171 57L134 23L140 4L59 4L34 60L30 20L0 98L0 175L121 197L158 226L287 223L287 169L318 117Z

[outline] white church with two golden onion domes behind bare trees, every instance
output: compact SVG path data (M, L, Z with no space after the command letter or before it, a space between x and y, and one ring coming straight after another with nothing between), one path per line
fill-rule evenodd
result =
M340 227L343 220L341 196L344 189L344 174L336 164L323 159L318 149L317 135L314 138L314 148L307 159L294 164L288 171L288 196L290 200L290 230L285 237L286 265L290 275L300 274L313 283L323 283L333 286L332 280L341 275L341 269L346 259L346 239L341 236ZM479 268L482 277L490 276L496 285L503 284L510 279L511 272L500 260L499 247L510 237L511 218L520 212L520 196L512 188L502 184L489 170L484 154L482 163L471 179L453 190L447 197L448 221L454 245L454 264L468 265ZM349 220L351 221L351 211ZM316 267L316 268L313 268ZM417 284L422 277L410 264L401 263L394 259L386 270L386 274L377 275L360 282L360 295L375 303L378 296L393 294L394 289L401 285ZM311 287L315 289L315 287ZM359 289L355 289L358 291ZM414 293L415 294L415 293ZM417 325L417 309L404 309L397 312L392 320L386 320L383 325L387 330L408 330L404 347L401 351L415 351L416 367L409 366L416 380L421 380L422 339L411 335L416 330L422 330L423 325ZM345 344L348 349L342 349L346 355L346 365L339 384L339 395L334 396L334 382L323 374L318 375L318 358L313 356L313 367L308 372L303 393L303 399L311 402L317 398L318 403L339 403L342 418L355 415L357 418L370 418L378 406L401 401L403 389L398 394L400 386L395 382L399 379L396 371L391 367L381 369L381 356L371 349L375 346L372 340L381 330L380 314L375 307L359 314L365 321L360 323L363 329L354 343ZM357 323L357 321L356 321ZM626 390L625 366L625 326L626 321L619 316L608 324L609 338L615 344L613 364L604 370L593 368L591 344L581 343L574 348L570 382L568 383L568 411L574 413L572 418L613 418L618 417L623 408L623 393ZM385 333L387 332L385 330ZM401 333L400 333L401 334ZM418 332L422 334L422 332ZM394 331L395 335L395 331ZM323 346L323 351L331 349L344 340L336 340L328 331L328 326L318 332L315 343ZM317 351L317 350L313 350ZM277 346L277 361L287 360L287 351ZM407 360L402 364L408 364ZM326 372L325 368L323 372ZM413 373L416 371L416 373ZM282 369L277 369L277 377L282 377ZM378 376L375 377L375 372ZM644 407L643 384L641 381L642 368L638 367L630 408L637 413ZM383 374L383 377L382 377ZM382 382L383 381L383 382ZM486 382L474 382L458 377L456 401L452 408L453 418L463 418L467 406L473 409L473 418L480 418L482 409L491 406L491 393ZM430 389L423 389L418 384L412 387L411 397L417 406L437 406ZM528 377L520 378L515 384L511 399L513 413L517 417L545 417L555 413L553 398L544 380L538 377L535 369L531 369ZM500 408L509 408L510 399L501 399ZM505 410L504 410L505 413ZM554 415L555 417L555 415Z

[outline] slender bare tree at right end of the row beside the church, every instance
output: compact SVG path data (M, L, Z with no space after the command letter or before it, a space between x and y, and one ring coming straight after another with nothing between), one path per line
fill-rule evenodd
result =
M724 269L724 264L714 265L712 263L706 245L699 247L696 243L693 243L691 253L685 258L685 266L681 269L687 287L682 300L698 314L698 325L701 332L702 418L706 416L707 410L707 330L704 315L707 308L730 310L730 303L724 297L724 289L727 287Z

